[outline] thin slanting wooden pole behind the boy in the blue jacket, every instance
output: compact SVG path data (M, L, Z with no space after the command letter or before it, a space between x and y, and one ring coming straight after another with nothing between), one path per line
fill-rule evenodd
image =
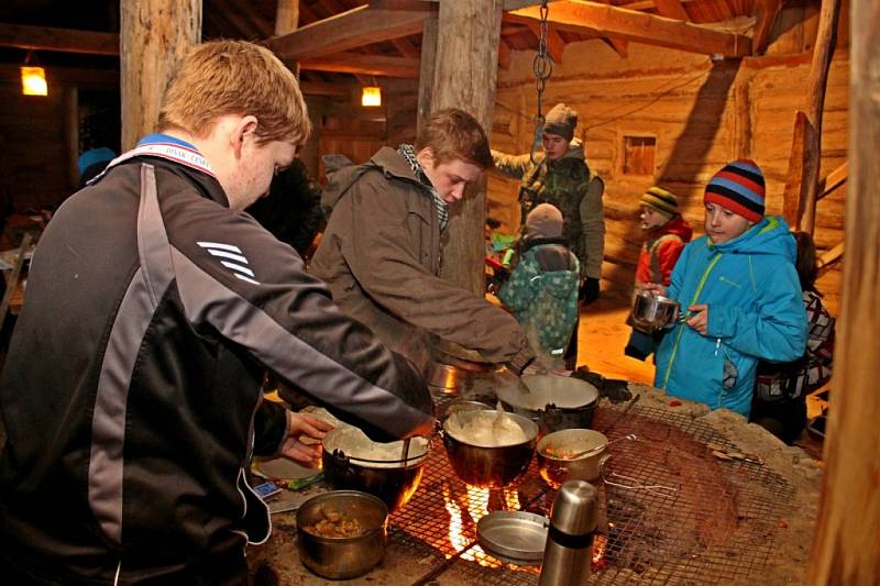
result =
M840 0L822 0L822 12L818 19L816 45L813 48L813 64L807 81L806 115L813 133L804 152L803 180L798 209L798 226L813 233L816 223L816 194L818 191L818 168L822 162L822 114L825 107L825 85L828 80L828 68L834 55L837 38L837 20L840 14Z

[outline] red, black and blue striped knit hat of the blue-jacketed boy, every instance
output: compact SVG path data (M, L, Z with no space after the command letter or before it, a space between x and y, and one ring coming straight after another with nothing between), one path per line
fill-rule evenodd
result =
M765 183L761 168L747 158L733 161L710 179L703 201L724 206L749 222L763 218Z

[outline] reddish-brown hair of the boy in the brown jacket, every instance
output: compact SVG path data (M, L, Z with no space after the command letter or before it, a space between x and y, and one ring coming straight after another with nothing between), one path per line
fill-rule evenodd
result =
M483 170L494 165L483 126L474 117L458 108L440 110L425 121L416 140L416 152L422 148L431 150L435 166L455 159L476 165Z

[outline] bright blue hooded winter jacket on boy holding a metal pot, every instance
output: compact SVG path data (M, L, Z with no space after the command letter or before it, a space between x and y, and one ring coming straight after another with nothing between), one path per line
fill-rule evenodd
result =
M789 226L776 217L723 244L707 236L688 244L672 272L669 297L682 311L707 305L707 332L682 323L667 333L657 351L654 386L748 417L758 358L785 362L804 353L806 314L795 252ZM725 358L735 368L728 366L726 376Z

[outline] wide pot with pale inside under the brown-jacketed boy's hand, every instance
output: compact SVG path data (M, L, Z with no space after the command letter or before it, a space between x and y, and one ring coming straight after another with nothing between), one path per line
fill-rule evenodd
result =
M598 389L586 380L558 375L524 375L521 380L525 389L498 387L498 400L538 423L542 432L587 429L593 424Z

